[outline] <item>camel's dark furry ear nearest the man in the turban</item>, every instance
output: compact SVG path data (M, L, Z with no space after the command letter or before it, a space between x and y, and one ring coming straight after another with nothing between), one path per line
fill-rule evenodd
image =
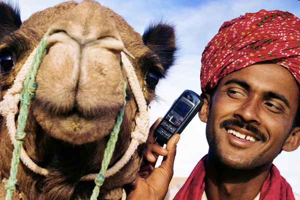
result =
M158 55L160 63L166 72L174 63L176 39L173 25L159 22L151 23L144 31L142 40L150 50Z

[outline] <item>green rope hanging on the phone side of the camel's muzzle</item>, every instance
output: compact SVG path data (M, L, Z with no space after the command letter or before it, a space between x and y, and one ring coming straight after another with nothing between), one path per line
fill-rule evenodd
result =
M115 147L115 143L117 140L117 135L119 133L120 130L120 125L122 123L122 118L124 115L124 109L125 109L125 104L126 104L126 82L124 82L124 105L122 107L122 109L119 111L117 117L116 117L116 121L115 124L113 126L113 129L110 133L108 142L107 142L107 146L104 150L104 156L103 156L103 160L102 160L102 164L101 164L101 169L99 174L97 175L97 177L95 178L95 187L92 191L90 200L96 200L98 195L99 195L99 191L100 191L100 186L103 184L104 182L104 174L107 170L108 164L110 162L112 153L114 151L114 147Z

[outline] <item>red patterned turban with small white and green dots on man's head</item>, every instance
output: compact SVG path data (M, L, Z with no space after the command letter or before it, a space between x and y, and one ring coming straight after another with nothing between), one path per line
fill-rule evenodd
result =
M256 62L286 67L300 83L300 19L280 10L246 13L225 21L202 53L201 90Z

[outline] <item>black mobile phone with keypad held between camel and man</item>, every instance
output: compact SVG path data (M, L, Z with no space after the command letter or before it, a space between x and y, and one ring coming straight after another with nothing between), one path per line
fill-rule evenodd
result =
M173 134L180 134L203 104L202 98L191 90L184 90L166 112L156 129L155 141L167 143Z

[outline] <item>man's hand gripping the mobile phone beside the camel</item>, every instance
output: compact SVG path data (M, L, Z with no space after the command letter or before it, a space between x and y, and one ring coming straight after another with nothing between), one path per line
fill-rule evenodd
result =
M161 118L158 118L150 128L149 137L145 144L143 164L140 167L135 184L128 188L126 199L160 200L166 195L173 176L176 144L180 135L173 135L167 142L165 149L157 142L154 143L154 130L160 120ZM154 168L158 155L162 155L163 160L157 168Z

